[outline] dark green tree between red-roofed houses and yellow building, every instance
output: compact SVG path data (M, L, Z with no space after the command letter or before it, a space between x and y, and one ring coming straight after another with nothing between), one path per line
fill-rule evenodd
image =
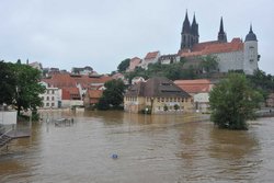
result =
M103 91L102 98L99 100L98 108L99 110L109 110L112 107L118 107L124 101L125 84L118 80L111 80L105 82L104 87L106 88Z

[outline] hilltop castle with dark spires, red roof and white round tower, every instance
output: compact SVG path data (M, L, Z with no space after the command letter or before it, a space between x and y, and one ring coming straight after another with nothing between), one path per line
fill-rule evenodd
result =
M198 59L207 55L216 56L219 72L242 70L247 75L253 75L258 70L258 39L253 33L252 25L250 25L250 31L244 42L239 37L228 42L221 18L216 41L199 43L198 38L198 24L195 14L192 24L190 24L186 12L181 32L181 46L178 52L180 57Z

